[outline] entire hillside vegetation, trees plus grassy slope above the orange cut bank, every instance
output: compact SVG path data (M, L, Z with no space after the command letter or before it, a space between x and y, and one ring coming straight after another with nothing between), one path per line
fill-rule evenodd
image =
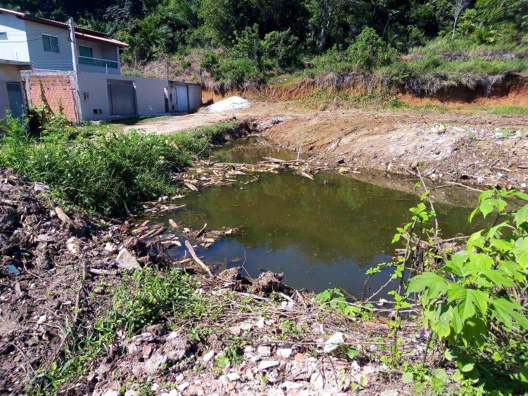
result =
M217 90L336 73L418 95L463 84L489 90L528 70L523 0L22 0L23 11L130 44L126 72Z

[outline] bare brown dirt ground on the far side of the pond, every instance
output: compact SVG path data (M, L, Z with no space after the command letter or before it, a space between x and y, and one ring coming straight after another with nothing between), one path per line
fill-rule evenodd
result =
M313 111L288 102L253 102L249 109L153 120L150 133L174 133L229 119L252 119L272 142L312 161L404 173L421 165L436 180L525 188L528 116ZM134 129L128 127L127 129Z

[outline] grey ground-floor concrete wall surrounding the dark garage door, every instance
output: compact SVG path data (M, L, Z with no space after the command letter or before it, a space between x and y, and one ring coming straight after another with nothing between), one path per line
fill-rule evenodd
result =
M138 116L165 114L165 97L163 92L164 88L168 88L167 80L79 72L79 97L83 119L101 120L110 118L107 79L134 81ZM85 92L88 97L86 100L84 100ZM102 114L93 114L93 109L101 109Z

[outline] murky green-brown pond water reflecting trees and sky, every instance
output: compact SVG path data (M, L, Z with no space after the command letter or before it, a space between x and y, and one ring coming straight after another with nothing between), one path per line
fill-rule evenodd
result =
M290 159L296 154L244 139L218 150L212 159L251 164L265 156ZM316 292L341 287L359 296L365 271L390 261L394 249L402 247L391 240L395 228L410 219L409 208L416 204L416 197L388 187L400 183L394 176L388 183L387 175L378 175L382 183L376 184L333 173L316 174L314 181L288 172L258 176L257 182L247 185L209 186L188 193L178 200L186 204L184 209L151 220L167 224L171 218L196 230L204 223L208 229L240 227L240 233L216 241L209 249L198 247L196 252L213 268L244 263L252 277L266 270L284 272L286 284ZM401 180L407 186L414 182ZM467 223L475 196L461 194L466 196L442 196L435 204L445 238L478 227ZM184 248L171 250L177 259L184 252ZM376 276L371 289L377 289L387 276Z

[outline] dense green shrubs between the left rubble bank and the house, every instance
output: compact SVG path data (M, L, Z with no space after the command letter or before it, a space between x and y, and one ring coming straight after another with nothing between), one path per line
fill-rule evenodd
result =
M86 137L66 125L43 129L32 137L25 122L6 117L0 139L0 165L13 167L31 180L91 211L118 214L131 206L176 191L172 175L190 165L224 127L171 136L141 134Z

